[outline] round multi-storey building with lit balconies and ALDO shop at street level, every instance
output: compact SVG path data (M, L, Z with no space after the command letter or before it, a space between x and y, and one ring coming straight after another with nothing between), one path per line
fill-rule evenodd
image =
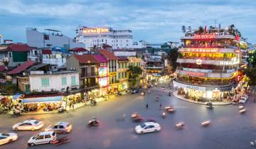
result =
M192 99L228 98L242 78L238 36L222 28L195 31L181 37L174 86Z

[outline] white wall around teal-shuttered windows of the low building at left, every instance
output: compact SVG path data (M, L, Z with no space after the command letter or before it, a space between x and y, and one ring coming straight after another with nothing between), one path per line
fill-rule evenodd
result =
M71 86L71 76L75 76L75 86ZM67 78L67 84L62 85L62 77ZM48 78L49 79L49 86L43 87L41 84L42 78ZM58 91L61 91L61 89L66 89L67 87L71 88L78 88L80 86L79 84L79 73L78 72L72 72L72 73L63 73L63 74L52 74L52 75L29 75L29 84L31 91L36 90L37 92L42 91L51 91L51 89L55 89Z

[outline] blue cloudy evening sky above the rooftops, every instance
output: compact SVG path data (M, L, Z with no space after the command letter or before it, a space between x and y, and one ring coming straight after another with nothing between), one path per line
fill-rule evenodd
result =
M132 29L134 40L179 41L181 26L235 24L256 43L255 0L0 0L0 34L26 42L26 28L53 28L75 37L75 28Z

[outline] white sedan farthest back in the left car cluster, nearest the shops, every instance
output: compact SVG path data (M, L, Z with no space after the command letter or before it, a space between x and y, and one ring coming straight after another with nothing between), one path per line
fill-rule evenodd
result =
M43 121L38 121L36 119L29 119L21 123L16 123L12 126L14 131L35 131L43 127Z

